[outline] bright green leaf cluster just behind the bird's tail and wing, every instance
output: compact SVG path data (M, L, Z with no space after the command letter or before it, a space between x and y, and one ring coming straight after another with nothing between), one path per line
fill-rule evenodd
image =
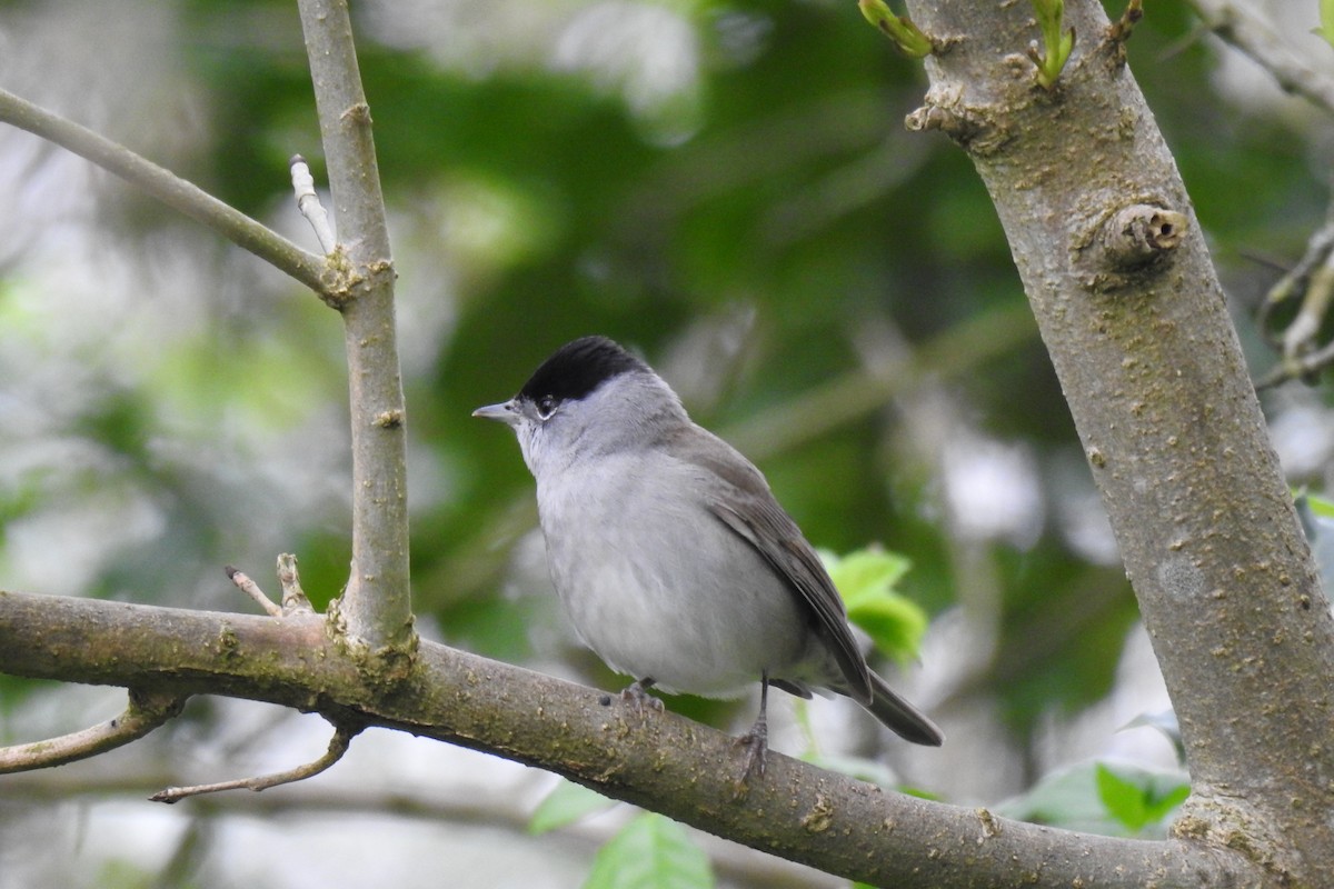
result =
M927 616L916 602L894 589L911 562L879 548L859 549L843 557L822 552L820 558L847 605L848 618L866 630L875 646L898 661L916 657Z

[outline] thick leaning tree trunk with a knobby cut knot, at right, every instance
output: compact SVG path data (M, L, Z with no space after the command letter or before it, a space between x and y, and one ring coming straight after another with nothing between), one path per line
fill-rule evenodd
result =
M1027 4L910 7L959 37L910 124L950 133L986 181L1181 720L1194 796L1175 829L1334 885L1334 618L1125 47L1070 0L1079 44L1037 92L1013 64ZM1109 249L1127 236L1143 249Z

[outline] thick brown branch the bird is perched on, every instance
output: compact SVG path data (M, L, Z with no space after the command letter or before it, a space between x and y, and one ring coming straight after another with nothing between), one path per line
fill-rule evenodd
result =
M930 802L770 756L735 798L731 737L432 642L392 688L317 616L220 614L0 592L0 672L221 693L540 766L710 833L884 886L1234 886L1241 856L1078 834ZM1245 878L1243 878L1245 877Z

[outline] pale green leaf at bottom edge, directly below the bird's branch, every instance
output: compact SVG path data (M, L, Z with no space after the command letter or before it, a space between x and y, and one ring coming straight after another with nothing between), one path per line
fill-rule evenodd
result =
M686 829L646 812L598 850L583 889L712 889L708 856Z

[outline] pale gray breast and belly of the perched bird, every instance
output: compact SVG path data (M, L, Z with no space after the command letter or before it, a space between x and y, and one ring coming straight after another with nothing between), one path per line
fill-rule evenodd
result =
M603 456L543 478L538 505L571 624L608 665L668 690L727 696L808 644L796 597L704 505L700 466Z

